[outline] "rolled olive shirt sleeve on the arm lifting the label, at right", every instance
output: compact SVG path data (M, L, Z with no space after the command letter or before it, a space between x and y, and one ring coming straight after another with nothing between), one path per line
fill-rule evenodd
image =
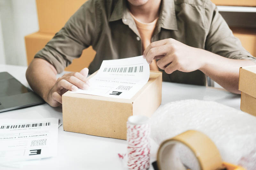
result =
M246 51L240 40L229 29L215 4L206 1L205 24L208 34L205 49L212 53L231 59L247 59L256 63L256 58Z

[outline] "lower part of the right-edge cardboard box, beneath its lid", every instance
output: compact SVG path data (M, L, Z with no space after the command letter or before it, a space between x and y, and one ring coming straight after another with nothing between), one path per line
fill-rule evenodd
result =
M241 92L241 106L240 109L251 115L256 116L256 98Z

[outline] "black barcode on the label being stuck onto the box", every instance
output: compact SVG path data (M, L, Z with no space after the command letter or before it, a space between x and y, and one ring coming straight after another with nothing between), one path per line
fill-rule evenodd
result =
M114 72L114 73L137 73L143 72L143 65L134 67L106 67L103 72Z

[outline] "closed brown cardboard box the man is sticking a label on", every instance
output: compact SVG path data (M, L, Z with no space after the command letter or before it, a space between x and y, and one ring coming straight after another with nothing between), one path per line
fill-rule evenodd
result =
M93 73L89 78L96 74ZM131 115L151 116L162 101L162 72L150 71L148 83L132 99L88 94L62 95L63 129L100 137L126 139Z

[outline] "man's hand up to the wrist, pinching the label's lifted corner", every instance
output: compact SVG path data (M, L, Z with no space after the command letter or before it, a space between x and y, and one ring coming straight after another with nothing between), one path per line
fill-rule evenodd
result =
M143 52L143 57L149 64L160 59L156 64L167 74L176 70L191 72L203 66L201 50L169 38L152 42Z

